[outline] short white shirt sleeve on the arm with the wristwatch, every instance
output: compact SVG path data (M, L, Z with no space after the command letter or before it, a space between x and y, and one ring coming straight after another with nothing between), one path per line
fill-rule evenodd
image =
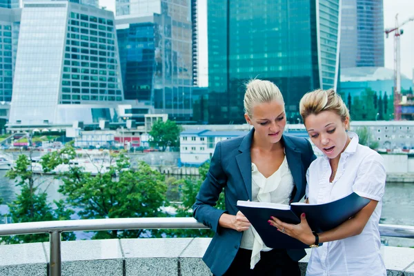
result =
M384 159L377 152L364 158L357 170L353 191L361 197L380 201L385 191Z

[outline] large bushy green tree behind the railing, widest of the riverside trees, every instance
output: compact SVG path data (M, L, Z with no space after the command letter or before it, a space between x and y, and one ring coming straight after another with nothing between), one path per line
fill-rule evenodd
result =
M61 152L43 159L47 170L53 170L74 152L66 146ZM79 166L69 166L57 178L63 181L59 193L66 195L66 202L79 210L81 219L106 219L126 217L165 217L160 207L166 206L164 176L139 162L137 169L130 168L130 160L123 152L111 155L115 165L109 170L92 176ZM114 239L158 235L157 230L110 230L95 233L93 239Z

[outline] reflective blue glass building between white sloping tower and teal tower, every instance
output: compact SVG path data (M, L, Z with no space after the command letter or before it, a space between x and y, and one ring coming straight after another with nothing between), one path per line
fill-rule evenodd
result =
M147 103L176 121L192 120L190 1L116 3L125 99Z

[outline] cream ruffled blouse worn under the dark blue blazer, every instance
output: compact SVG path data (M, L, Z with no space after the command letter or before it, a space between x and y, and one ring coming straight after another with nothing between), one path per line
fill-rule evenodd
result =
M290 173L286 156L279 168L273 172L273 175L266 178L262 175L257 166L252 163L252 200L260 202L272 202L278 204L289 204L290 194L293 191L293 177ZM252 250L250 268L254 268L259 262L260 251L269 251L268 248L255 228L250 226L244 231L241 248Z

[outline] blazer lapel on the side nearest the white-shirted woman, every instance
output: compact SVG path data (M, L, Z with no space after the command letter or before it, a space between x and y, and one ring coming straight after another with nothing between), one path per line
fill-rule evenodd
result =
M295 145L290 142L289 138L285 135L282 135L282 141L285 147L286 159L288 160L288 165L290 172L292 173L293 181L296 186L295 198L292 198L293 201L298 201L296 195L302 190L302 179L303 179L303 164L300 158L301 152L296 150Z

